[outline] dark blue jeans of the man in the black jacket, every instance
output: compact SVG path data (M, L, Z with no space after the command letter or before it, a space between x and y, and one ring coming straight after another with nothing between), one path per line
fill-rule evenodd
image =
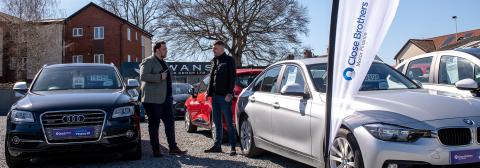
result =
M212 118L213 123L215 123L216 130L215 133L217 137L215 138L215 146L221 146L222 137L223 137L223 122L222 114L227 124L228 131L228 141L232 148L236 147L236 133L233 128L233 115L232 115L232 101L226 102L225 96L213 96L212 97Z

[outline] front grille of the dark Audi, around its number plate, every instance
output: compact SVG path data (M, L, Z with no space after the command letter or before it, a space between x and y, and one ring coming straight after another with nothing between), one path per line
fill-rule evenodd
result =
M45 112L40 116L43 131L47 143L75 143L100 140L106 112L102 110L81 110L81 111L58 111ZM82 129L94 130L94 134L88 137L67 137L55 138L54 130L59 129Z

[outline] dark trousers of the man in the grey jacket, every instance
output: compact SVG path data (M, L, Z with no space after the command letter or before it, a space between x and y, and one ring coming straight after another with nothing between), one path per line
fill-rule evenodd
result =
M175 149L177 143L175 142L175 118L172 111L172 98L167 98L163 104L143 103L145 112L148 116L148 134L150 134L150 144L152 149L160 149L160 142L158 139L158 129L160 127L160 120L165 126L165 135L169 149Z

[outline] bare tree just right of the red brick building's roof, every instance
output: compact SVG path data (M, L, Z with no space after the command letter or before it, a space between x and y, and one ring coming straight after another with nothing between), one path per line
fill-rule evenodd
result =
M160 14L162 0L100 0L100 6L136 26L155 34L155 20Z

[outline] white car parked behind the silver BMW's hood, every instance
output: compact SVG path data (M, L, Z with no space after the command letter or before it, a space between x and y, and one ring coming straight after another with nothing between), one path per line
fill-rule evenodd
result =
M422 54L403 61L396 69L424 88L480 96L480 48Z

